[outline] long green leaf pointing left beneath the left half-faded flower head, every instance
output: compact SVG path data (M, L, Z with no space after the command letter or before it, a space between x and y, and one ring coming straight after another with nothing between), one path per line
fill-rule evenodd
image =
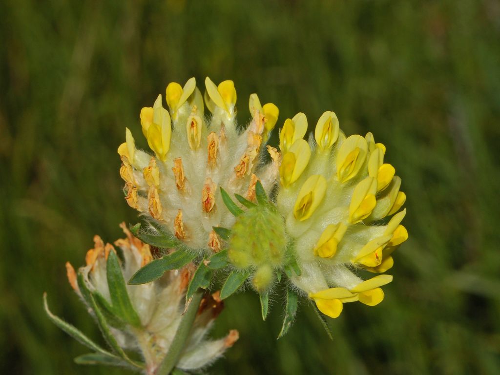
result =
M189 263L196 255L184 250L176 250L159 259L154 259L137 270L128 284L145 284L161 277L165 271L178 269Z

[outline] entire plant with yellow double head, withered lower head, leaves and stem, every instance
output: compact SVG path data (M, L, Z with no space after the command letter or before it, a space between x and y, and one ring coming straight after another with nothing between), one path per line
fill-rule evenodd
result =
M137 149L126 129L118 147L123 191L144 224L130 228L116 253L97 241L78 275L68 266L113 352L47 309L95 351L79 362L145 366L155 375L204 367L237 338L231 331L222 340L202 339L220 301L244 285L258 293L263 319L269 295L284 294L281 337L299 297L324 323L319 311L335 318L346 302L374 306L384 297L380 286L392 281L387 274L366 279L391 268L392 252L408 237L400 224L406 196L384 163L385 146L371 133L346 137L326 111L308 140L305 115L287 118L278 150L266 145L278 118L274 104L251 94L250 123L238 126L233 82L215 85L207 77L205 88L202 95L194 78L169 83L168 110L161 95L141 109L152 154ZM209 302L200 306L203 295ZM124 348L135 348L143 362Z

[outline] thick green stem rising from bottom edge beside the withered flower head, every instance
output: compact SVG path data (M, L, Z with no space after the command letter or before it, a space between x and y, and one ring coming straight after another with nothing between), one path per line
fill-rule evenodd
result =
M194 318L196 317L199 302L201 302L201 297L203 296L204 291L204 289L199 288L194 292L191 302L189 303L189 306L187 306L186 312L180 319L179 326L177 327L175 336L173 337L172 343L168 348L168 352L156 371L156 375L168 375L177 364L180 354L182 353L184 345L187 341L187 337L191 332L191 327L194 323Z

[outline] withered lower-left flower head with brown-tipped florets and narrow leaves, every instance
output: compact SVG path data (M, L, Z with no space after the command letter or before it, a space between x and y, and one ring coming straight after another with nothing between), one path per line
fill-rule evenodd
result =
M165 272L154 282L126 285L125 280L148 264L152 255L148 244L134 237L124 223L120 226L126 238L116 240L113 246L104 244L96 235L94 247L86 253L85 265L78 271L66 263L69 283L95 318L108 349L53 315L46 295L43 297L50 319L92 350L75 358L76 363L123 366L147 375L162 373L162 367L168 368L163 373L207 367L238 339L237 330L218 340L205 337L223 307L219 293L193 297L190 308L184 311L184 317L191 315L192 327L183 326L182 310L192 264ZM182 329L187 330L183 336L178 334Z

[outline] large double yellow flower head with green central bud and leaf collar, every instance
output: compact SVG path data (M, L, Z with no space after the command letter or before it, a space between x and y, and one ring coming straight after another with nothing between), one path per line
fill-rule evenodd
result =
M269 294L283 287L280 335L293 319L297 294L330 317L346 302L382 301L380 286L392 276L364 280L362 271L392 267L392 252L407 238L400 224L405 210L399 211L405 194L394 167L384 163L385 146L371 133L346 137L335 113L326 111L308 140L307 119L297 113L279 131L279 151L264 147L277 107L261 105L251 94L252 119L239 127L233 82L217 86L207 77L205 88L210 114L194 78L183 87L168 84L169 110L161 95L141 109L142 132L154 155L136 149L128 129L118 148L125 199L147 223L132 231L171 249L129 283L149 282L193 261L188 296L226 276L220 297L246 283L259 293L263 318Z

